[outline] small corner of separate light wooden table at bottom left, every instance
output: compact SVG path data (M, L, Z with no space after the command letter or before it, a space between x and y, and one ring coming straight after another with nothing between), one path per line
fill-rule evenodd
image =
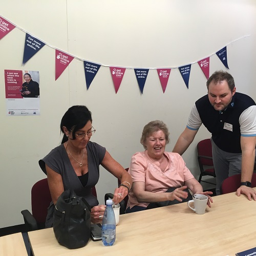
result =
M22 233L0 237L0 255L28 256Z

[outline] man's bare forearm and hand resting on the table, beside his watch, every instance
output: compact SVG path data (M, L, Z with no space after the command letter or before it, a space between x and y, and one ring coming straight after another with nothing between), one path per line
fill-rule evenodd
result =
M254 161L255 161L255 145L256 137L241 136L241 149L242 149L242 175L241 182L251 181ZM237 196L245 194L249 200L251 197L256 201L256 191L247 186L240 186L237 190Z

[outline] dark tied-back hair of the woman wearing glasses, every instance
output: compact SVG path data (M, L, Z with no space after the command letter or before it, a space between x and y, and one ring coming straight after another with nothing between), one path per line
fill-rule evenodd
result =
M71 108L69 108L61 118L60 131L63 133L61 144L68 141L68 137L63 130L63 126L67 127L69 131L72 131L72 139L75 139L76 131L84 127L88 121L92 122L92 113L86 106L71 106Z

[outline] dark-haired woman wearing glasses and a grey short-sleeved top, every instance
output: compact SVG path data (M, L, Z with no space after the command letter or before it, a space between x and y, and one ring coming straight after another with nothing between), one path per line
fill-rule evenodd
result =
M62 117L60 130L63 133L61 145L55 147L39 165L47 174L52 202L48 208L46 227L53 225L54 205L64 190L74 189L78 196L84 197L91 205L91 221L102 220L105 206L98 205L92 195L92 187L99 180L99 165L121 180L115 189L113 201L119 203L129 193L132 178L116 162L105 147L90 141L95 133L91 112L86 106L72 106Z

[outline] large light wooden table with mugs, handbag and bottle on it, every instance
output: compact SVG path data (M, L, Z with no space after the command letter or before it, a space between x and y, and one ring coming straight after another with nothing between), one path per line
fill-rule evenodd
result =
M213 198L197 215L186 203L120 216L116 242L101 241L79 249L58 244L53 229L29 232L38 255L235 255L256 246L256 202L235 193Z

